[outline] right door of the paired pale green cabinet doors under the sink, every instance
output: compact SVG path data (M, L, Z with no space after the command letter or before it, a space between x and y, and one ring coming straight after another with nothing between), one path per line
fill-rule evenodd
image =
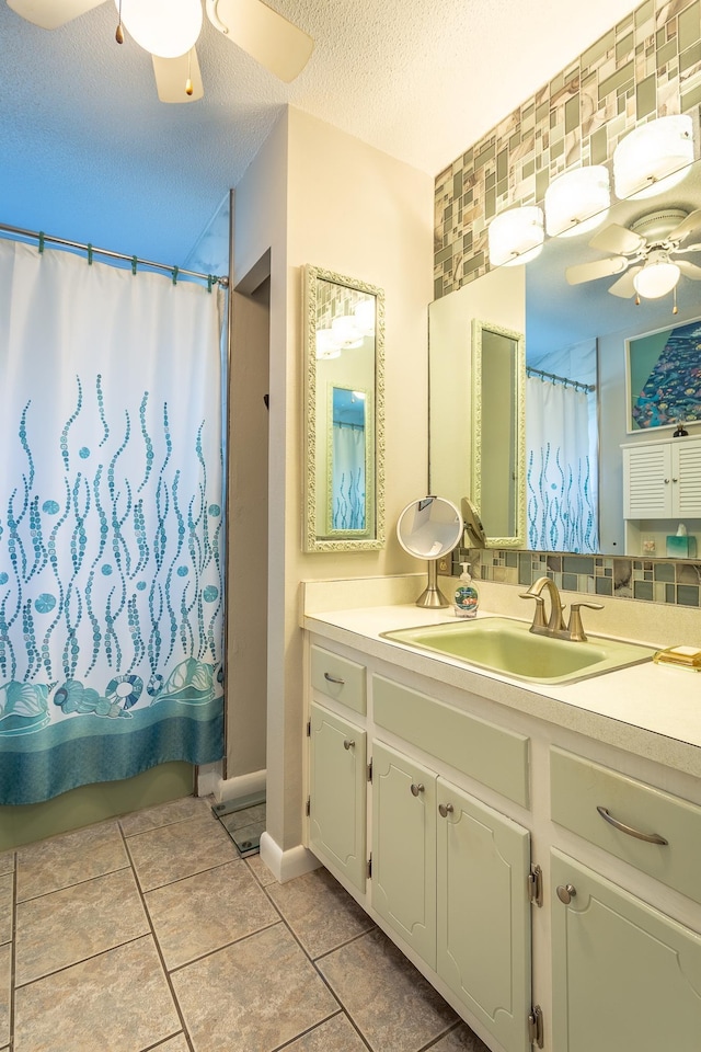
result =
M443 778L436 807L436 970L508 1052L525 1052L530 834Z

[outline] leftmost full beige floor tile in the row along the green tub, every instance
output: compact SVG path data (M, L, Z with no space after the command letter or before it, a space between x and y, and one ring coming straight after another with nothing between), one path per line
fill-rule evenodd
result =
M18 902L129 865L116 822L38 841L18 850Z

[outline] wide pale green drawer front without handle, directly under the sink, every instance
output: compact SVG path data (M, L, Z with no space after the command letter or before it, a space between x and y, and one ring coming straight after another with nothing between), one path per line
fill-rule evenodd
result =
M528 807L528 739L383 676L372 676L375 722Z

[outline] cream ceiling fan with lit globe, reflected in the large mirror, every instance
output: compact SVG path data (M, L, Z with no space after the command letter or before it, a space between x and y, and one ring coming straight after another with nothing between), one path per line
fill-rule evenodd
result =
M691 213L681 208L658 209L630 227L612 222L591 238L589 244L614 254L568 266L565 277L570 285L582 285L621 274L609 288L613 296L657 299L676 288L682 274L694 282L701 281L701 266L678 259L683 253L701 251L701 243L683 244L700 228L701 208Z

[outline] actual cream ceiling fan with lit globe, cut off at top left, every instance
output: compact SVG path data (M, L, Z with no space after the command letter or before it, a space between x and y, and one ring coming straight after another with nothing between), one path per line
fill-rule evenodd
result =
M55 30L110 0L7 0L19 15ZM202 0L114 0L116 39L127 33L151 53L161 102L195 102L204 95L195 52ZM205 0L211 24L280 80L294 80L312 53L312 38L263 0Z

